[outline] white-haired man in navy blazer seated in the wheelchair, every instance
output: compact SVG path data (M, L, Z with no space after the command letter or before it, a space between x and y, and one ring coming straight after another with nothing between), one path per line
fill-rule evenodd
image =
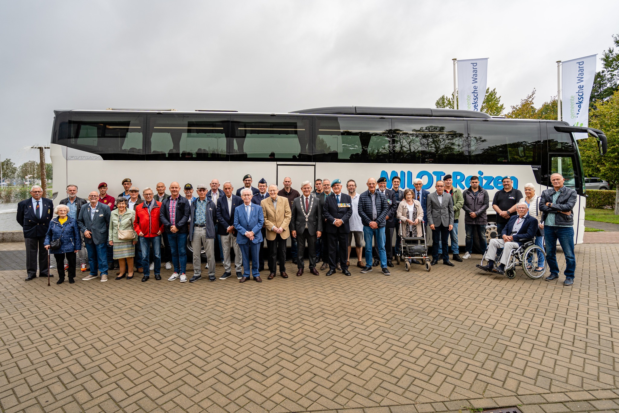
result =
M518 202L516 212L518 215L509 219L500 237L490 240L485 254L488 264L484 266L477 264L478 268L483 269L483 271L504 274L511 251L522 246L525 242L523 240L530 241L535 237L538 231L537 219L529 215L529 206L526 202ZM495 267L496 250L499 248L503 248L503 254L501 255L501 263Z

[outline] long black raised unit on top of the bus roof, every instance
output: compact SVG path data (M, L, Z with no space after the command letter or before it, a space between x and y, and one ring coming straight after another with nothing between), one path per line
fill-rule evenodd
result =
M371 115L371 116L423 116L430 118L474 118L491 119L492 116L471 110L436 109L436 108L384 108L371 106L332 106L295 110L290 113L307 113L308 115Z

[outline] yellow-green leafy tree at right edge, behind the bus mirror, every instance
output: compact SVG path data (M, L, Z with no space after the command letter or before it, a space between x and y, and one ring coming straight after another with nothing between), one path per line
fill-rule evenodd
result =
M589 112L589 126L604 131L608 152L600 155L595 139L580 139L582 167L586 176L597 176L617 186L615 214L619 215L619 90L607 100L600 100Z

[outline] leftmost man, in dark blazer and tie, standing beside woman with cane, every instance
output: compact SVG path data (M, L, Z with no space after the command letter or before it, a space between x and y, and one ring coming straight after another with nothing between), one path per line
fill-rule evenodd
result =
M43 241L54 211L51 199L43 198L43 188L33 186L30 195L31 198L17 204L17 222L24 228L26 244L26 281L37 277L37 255L39 277L48 276L47 251Z

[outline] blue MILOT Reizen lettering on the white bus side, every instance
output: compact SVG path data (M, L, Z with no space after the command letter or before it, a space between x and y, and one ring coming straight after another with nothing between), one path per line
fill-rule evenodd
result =
M430 171L422 170L417 173L417 176L415 176L415 178L420 178L421 180L423 180L423 178L426 178L427 182L422 186L422 188L429 189L429 188L432 188L435 181L442 180L443 176L445 175L446 173L443 171L430 172ZM383 176L387 178L387 188L389 189L392 188L391 179L394 176L398 176L400 178L400 188L402 189L415 188L415 186L413 185L413 172L412 171L406 171L406 172L400 171L399 175L396 171L391 171L391 173L387 173L387 171L381 171L381 177ZM473 175L465 175L464 173L460 171L454 171L451 173L451 176L453 180L452 185L454 186L454 188L467 189L470 186L470 178ZM503 184L501 183L501 181L503 180L502 175L484 176L483 171L478 171L477 176L479 176L479 183L483 189L498 189L498 190L503 189ZM516 176L510 176L510 178L514 181L514 188L517 189L518 178L516 178Z

